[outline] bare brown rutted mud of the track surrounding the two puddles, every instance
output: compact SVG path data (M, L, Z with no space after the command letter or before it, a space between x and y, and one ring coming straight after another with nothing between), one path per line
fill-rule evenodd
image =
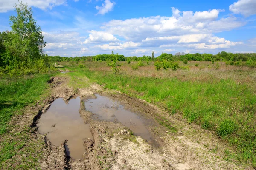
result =
M33 140L45 142L43 159L39 168L43 170L210 170L210 169L253 169L235 161L223 159L224 150L230 149L213 133L199 126L189 125L179 114L169 116L156 106L140 99L131 98L117 91L103 91L99 85L92 84L89 88L74 91L68 88L68 77L53 77L52 94L32 111L23 115L25 121L34 127ZM147 120L145 127L154 139L149 142L132 131L118 120L105 121L95 119L95 115L84 107L87 99L95 99L94 94L108 96L129 111ZM93 139L85 139L85 152L82 159L74 160L67 156L64 140L60 146L54 146L47 137L39 134L37 123L40 116L47 111L50 104L58 98L68 102L80 96L79 113L85 124L90 124ZM31 119L34 116L34 119ZM163 119L165 117L166 119ZM157 119L168 121L177 132L171 132L159 125ZM32 121L29 121L32 120ZM26 123L27 123L26 122Z

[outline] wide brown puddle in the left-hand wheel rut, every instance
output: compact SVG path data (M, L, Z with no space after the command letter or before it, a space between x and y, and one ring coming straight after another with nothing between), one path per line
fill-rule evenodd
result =
M47 139L53 145L59 146L67 139L66 151L73 159L83 158L86 151L84 139L93 140L89 124L84 124L79 109L80 97L71 99L68 104L62 98L56 99L46 113L41 115L37 124L39 133L47 134Z

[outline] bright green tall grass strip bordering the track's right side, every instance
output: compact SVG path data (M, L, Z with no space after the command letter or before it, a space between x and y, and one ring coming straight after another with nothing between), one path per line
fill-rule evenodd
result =
M145 99L170 114L181 113L189 123L215 131L237 148L236 159L256 166L256 94L249 85L231 79L181 81L106 71L86 70L85 75L105 88Z

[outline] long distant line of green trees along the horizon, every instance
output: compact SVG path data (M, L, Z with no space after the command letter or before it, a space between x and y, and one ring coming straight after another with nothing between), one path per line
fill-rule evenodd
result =
M216 55L213 54L185 54L185 53L176 53L173 54L167 54L162 53L158 57L152 57L151 56L143 56L143 57L125 57L124 55L119 54L99 54L96 56L82 56L82 57L61 57L61 56L49 56L50 61L52 62L61 62L61 61L112 61L113 59L116 59L118 61L127 61L128 58L131 61L256 61L256 53L227 53L225 51L219 52Z

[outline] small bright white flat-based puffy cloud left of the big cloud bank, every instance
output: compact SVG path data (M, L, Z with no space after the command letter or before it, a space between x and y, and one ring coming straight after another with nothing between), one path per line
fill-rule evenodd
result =
M89 38L87 38L84 41L84 44L91 44L91 43L98 43L98 42L118 42L119 40L113 36L112 34L109 34L107 32L103 31L90 31Z

